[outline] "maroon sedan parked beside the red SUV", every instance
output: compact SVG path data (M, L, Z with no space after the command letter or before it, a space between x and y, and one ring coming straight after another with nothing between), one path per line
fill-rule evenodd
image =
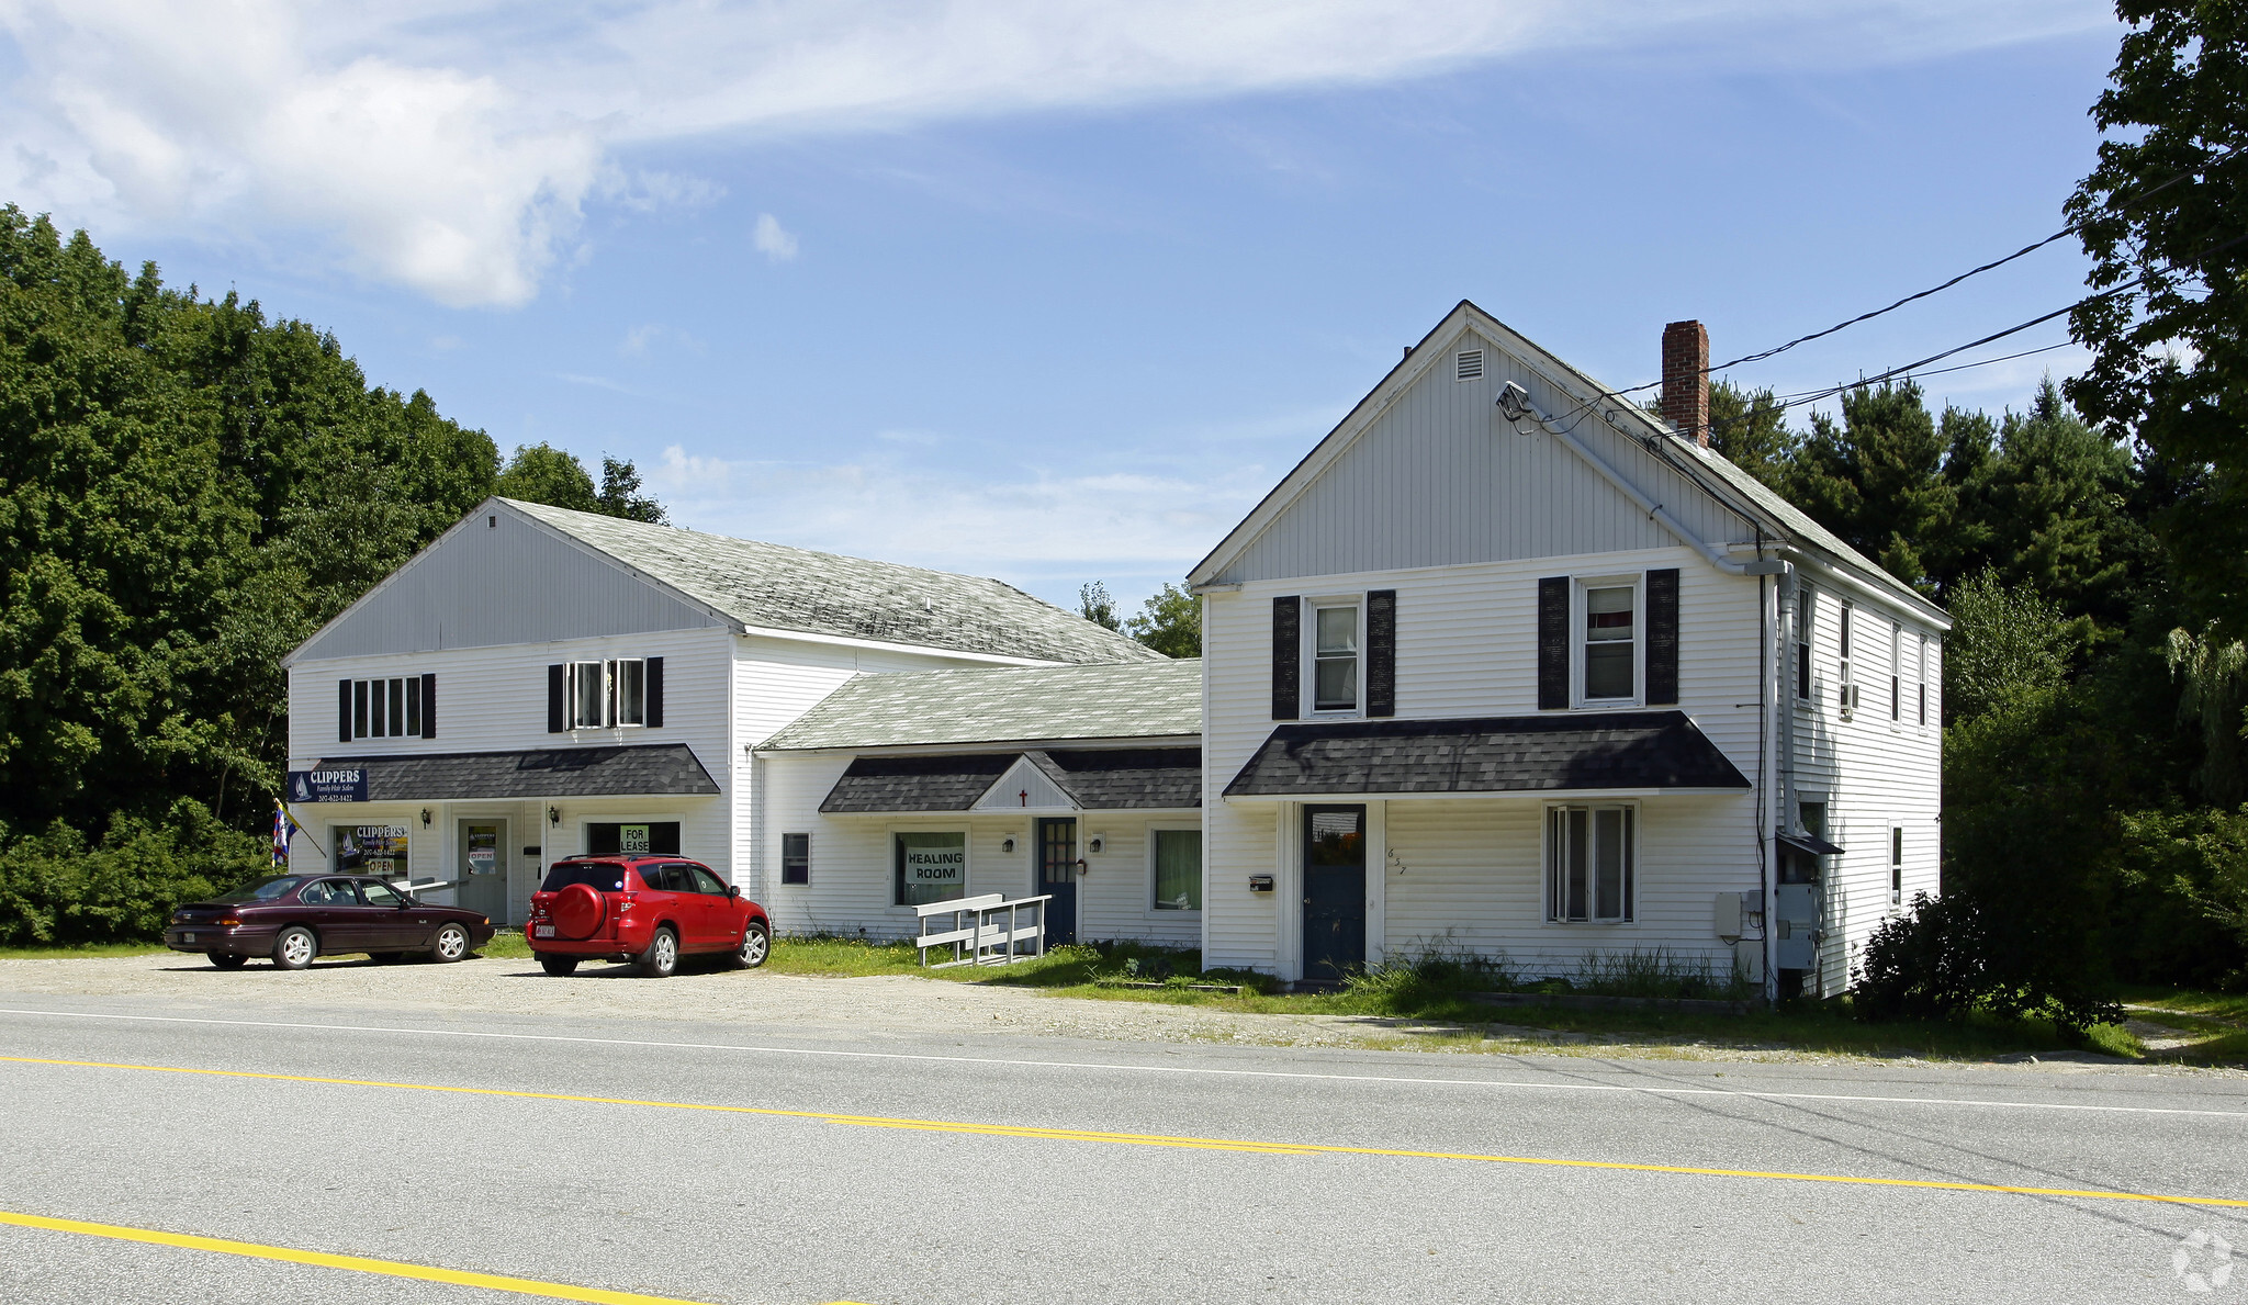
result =
M216 901L171 912L164 946L202 952L220 970L272 957L301 970L317 955L366 952L396 961L409 952L459 961L492 941L492 921L450 905L423 905L366 874L277 874Z

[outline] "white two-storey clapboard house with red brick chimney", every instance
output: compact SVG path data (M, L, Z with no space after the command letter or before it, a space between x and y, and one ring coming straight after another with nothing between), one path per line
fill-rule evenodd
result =
M1945 613L1708 449L1454 308L1191 573L1209 966L1427 950L1837 993L1938 883Z

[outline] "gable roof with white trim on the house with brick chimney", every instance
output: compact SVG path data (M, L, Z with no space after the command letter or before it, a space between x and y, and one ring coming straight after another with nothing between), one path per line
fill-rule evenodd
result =
M1232 532L1216 548L1203 557L1194 571L1189 571L1189 586L1209 584L1216 580L1232 562L1236 562L1281 514L1288 512L1326 472L1335 460L1365 436L1374 422L1416 382L1421 382L1434 366L1450 357L1450 341L1466 332L1477 332L1502 350L1520 359L1531 373L1535 373L1551 391L1567 395L1569 404L1578 413L1601 411L1603 427L1616 431L1623 438L1637 440L1646 449L1661 456L1666 463L1679 467L1684 478L1695 485L1699 494L1717 503L1726 514L1742 521L1742 526L1762 528L1778 544L1794 544L1805 553L1819 555L1821 562L1837 566L1841 571L1855 573L1861 584L1877 588L1891 600L1922 613L1931 620L1945 622L1942 609L1931 604L1927 597L1915 593L1909 584L1900 582L1882 566L1843 544L1832 530L1812 521L1794 503L1787 503L1769 487L1765 487L1756 476L1749 476L1733 463L1729 463L1715 449L1704 449L1690 438L1682 438L1666 422L1646 413L1637 404L1616 398L1612 386L1605 386L1583 371L1569 366L1560 357L1547 353L1524 335L1515 332L1504 321L1490 317L1472 301L1461 299L1452 312L1443 317L1421 341L1407 353L1396 366L1389 368L1383 380L1367 391L1362 400L1331 429L1308 454L1299 460L1266 496L1250 510L1248 517L1234 526ZM1569 413L1547 413L1547 418L1569 418ZM1578 418L1571 418L1571 425ZM1722 544L1722 541L1720 541Z

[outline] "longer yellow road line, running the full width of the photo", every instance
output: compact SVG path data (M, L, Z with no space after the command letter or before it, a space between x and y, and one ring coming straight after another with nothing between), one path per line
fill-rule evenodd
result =
M1621 1172L1666 1172L1666 1175L1693 1175L1693 1177L1726 1177L1726 1179L1767 1179L1767 1181L1798 1181L1798 1184L1843 1184L1843 1186L1870 1186L1870 1188L1929 1188L1929 1190L1951 1190L1951 1193L2003 1193L2023 1197L2075 1197L2095 1202L2158 1202L2174 1206L2228 1206L2248 1208L2248 1199L2239 1197L2178 1197L2160 1193L2124 1193L2124 1190L2091 1190L2091 1188L2032 1188L2014 1184L1969 1184L1949 1179L1884 1179L1866 1175L1821 1175L1821 1172L1787 1172L1787 1170L1749 1170L1749 1168L1704 1168L1704 1166L1679 1166L1679 1163L1634 1163L1616 1159L1556 1159L1556 1157L1531 1157L1531 1155L1481 1155L1461 1150L1401 1150L1380 1146L1331 1146L1313 1141L1243 1141L1243 1139L1221 1139L1221 1137L1173 1137L1160 1132L1097 1132L1084 1128L1032 1128L1018 1123L964 1123L946 1119L888 1119L879 1114L836 1114L827 1110L780 1110L771 1105L710 1105L699 1101L643 1101L632 1096L580 1096L571 1092L524 1092L513 1087L454 1087L445 1083L384 1083L378 1078L321 1078L312 1074L261 1074L254 1069L193 1069L180 1065L117 1065L108 1060L47 1060L38 1056L0 1056L0 1062L13 1065L61 1065L70 1069L139 1069L146 1074L200 1074L209 1078L263 1078L272 1083L321 1083L333 1087L389 1087L396 1092L454 1092L461 1096L508 1096L519 1101L566 1101L575 1105L629 1105L643 1110L704 1110L713 1114L762 1114L778 1119L814 1119L821 1123L845 1123L854 1128L901 1128L913 1132L964 1132L980 1137L1027 1137L1043 1141L1099 1141L1111 1146L1162 1146L1182 1150L1239 1150L1252 1155L1369 1155L1369 1157L1394 1157L1394 1159L1457 1159L1475 1163L1520 1163L1520 1166L1542 1166L1542 1168L1580 1168L1580 1170L1621 1170Z

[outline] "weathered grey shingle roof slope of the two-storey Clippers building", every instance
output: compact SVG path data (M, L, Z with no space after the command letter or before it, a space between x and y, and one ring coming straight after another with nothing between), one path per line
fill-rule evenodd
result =
M506 503L751 627L1054 663L1162 656L998 580Z

